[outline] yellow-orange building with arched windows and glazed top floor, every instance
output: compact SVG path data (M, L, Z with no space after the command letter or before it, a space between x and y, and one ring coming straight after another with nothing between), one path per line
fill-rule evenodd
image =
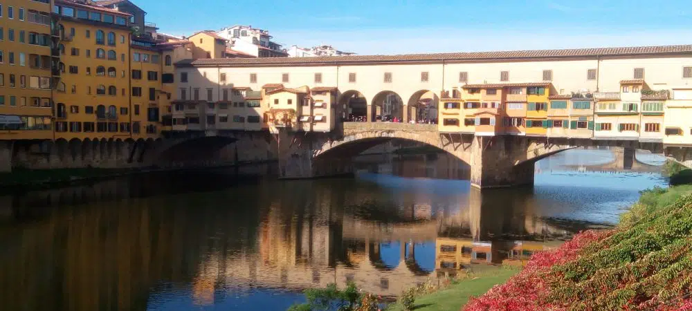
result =
M55 138L129 138L129 17L118 10L55 0L60 79Z

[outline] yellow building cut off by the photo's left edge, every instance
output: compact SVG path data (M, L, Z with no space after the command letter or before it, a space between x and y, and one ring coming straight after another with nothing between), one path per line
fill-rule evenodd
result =
M0 140L53 138L51 1L0 3Z

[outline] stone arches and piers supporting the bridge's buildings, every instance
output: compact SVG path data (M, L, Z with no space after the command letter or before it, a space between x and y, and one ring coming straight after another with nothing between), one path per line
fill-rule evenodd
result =
M471 185L477 188L533 185L534 164L561 151L579 147L621 147L634 157L635 149L662 153L663 145L632 140L548 138L525 135L478 136L444 133L436 124L344 122L330 133L277 129L281 178L316 178L352 173L352 158L392 139L421 142L444 150L471 166ZM626 161L627 162L627 161ZM632 163L632 159L628 161Z

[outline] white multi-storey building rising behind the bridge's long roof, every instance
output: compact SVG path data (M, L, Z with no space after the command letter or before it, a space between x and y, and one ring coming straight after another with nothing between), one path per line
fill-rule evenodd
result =
M281 44L271 41L268 30L253 28L253 26L235 25L216 32L219 37L228 40L228 48L243 55L254 57L287 57Z

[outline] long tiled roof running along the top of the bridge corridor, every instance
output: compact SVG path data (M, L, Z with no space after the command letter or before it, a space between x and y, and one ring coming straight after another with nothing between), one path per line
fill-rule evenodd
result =
M264 57L257 59L183 60L179 66L271 66L295 64L361 64L388 62L471 62L520 59L565 59L604 56L644 56L692 54L692 45L632 46L621 48L570 48L563 50L511 50L495 52L432 53L406 55L346 55L320 57Z

